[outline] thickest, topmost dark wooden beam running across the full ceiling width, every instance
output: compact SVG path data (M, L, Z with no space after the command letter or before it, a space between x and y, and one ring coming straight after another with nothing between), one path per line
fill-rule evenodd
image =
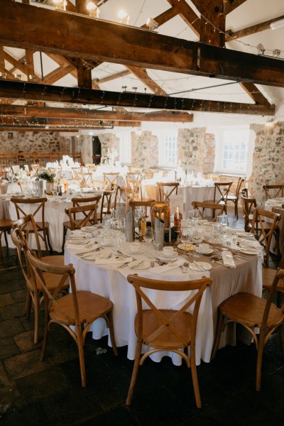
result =
M284 63L82 15L1 1L0 45L284 87ZM36 37L35 37L36 34ZM48 35L48 36L47 36ZM94 43L96 40L96 43Z

